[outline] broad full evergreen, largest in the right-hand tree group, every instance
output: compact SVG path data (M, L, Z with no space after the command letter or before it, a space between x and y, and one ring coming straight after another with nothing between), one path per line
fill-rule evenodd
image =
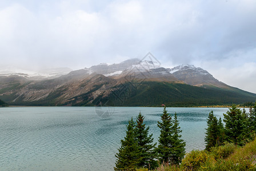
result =
M247 136L248 120L243 115L241 109L233 105L227 113L223 113L225 125L225 135L229 143L236 145L245 144Z

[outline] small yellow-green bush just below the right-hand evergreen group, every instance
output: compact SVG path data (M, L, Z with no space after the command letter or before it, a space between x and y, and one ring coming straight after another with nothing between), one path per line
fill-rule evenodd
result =
M227 143L223 146L214 146L211 148L211 154L217 160L218 158L227 158L237 148L233 143Z

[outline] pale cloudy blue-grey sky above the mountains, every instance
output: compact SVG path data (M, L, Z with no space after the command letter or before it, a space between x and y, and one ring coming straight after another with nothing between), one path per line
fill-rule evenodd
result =
M0 1L0 70L142 59L256 93L256 1Z

